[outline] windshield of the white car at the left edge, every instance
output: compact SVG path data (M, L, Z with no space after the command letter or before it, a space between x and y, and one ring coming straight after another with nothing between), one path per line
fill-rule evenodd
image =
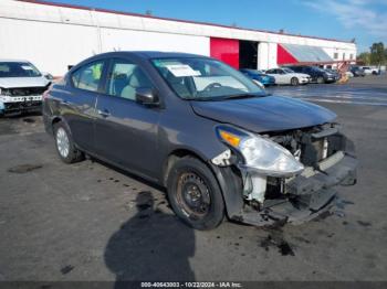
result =
M0 77L38 77L41 73L28 62L0 62Z

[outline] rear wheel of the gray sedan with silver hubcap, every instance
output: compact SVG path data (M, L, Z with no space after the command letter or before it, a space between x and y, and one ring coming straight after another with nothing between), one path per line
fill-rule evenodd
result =
M84 159L83 152L75 148L71 133L63 122L54 125L54 136L56 151L63 162L74 163Z

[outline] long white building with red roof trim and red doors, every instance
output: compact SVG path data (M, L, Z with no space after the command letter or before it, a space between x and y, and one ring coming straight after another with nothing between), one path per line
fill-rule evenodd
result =
M119 50L187 52L261 69L356 57L356 44L345 41L35 0L0 1L0 58L29 60L59 76L88 56Z

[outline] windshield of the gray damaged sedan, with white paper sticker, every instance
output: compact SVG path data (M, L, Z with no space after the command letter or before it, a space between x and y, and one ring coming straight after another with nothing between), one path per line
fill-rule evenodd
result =
M264 96L265 92L228 65L210 58L178 57L153 60L175 93L184 99L219 100Z

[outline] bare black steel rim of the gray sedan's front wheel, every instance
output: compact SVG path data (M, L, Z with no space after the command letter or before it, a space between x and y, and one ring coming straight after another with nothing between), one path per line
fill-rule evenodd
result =
M182 173L177 184L177 203L191 218L205 217L211 206L208 185L194 172Z

